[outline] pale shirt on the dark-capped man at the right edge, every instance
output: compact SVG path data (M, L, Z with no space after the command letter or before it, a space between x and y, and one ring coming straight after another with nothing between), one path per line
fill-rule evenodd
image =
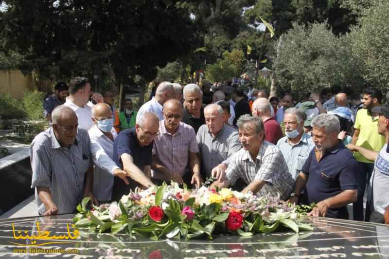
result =
M388 144L380 150L375 159L374 170L370 178L368 201L372 210L381 215L389 207L389 197L385 195L389 186L389 148Z

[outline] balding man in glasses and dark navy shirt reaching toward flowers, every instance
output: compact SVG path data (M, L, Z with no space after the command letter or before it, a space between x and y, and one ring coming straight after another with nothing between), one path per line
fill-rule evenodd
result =
M113 143L113 161L133 181L130 185L114 178L112 199L117 201L136 186L147 188L151 182L151 156L154 138L159 134L159 118L153 112L143 112L134 128L123 130Z

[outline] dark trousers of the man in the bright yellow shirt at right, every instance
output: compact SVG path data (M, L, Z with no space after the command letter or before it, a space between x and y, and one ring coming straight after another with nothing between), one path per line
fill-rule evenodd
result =
M360 170L357 173L358 183L358 198L353 203L353 219L354 221L364 221L363 217L363 196L365 194L366 184L369 183L371 173L374 169L374 164L358 162ZM366 205L367 208L367 205ZM366 209L366 220L370 217L370 210Z

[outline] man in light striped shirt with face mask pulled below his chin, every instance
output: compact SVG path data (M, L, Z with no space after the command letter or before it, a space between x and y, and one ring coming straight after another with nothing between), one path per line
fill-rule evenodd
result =
M289 173L295 180L309 153L315 147L311 136L304 132L304 118L305 114L296 108L286 110L283 115L286 136L277 142L277 147L280 148L288 165Z

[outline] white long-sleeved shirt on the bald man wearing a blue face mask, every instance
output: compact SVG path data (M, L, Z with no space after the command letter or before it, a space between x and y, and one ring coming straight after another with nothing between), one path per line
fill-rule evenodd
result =
M95 164L93 194L98 201L109 201L112 195L113 171L119 168L112 160L113 141L107 138L96 125L89 129L88 134L90 151ZM118 135L113 127L111 134L113 139Z

